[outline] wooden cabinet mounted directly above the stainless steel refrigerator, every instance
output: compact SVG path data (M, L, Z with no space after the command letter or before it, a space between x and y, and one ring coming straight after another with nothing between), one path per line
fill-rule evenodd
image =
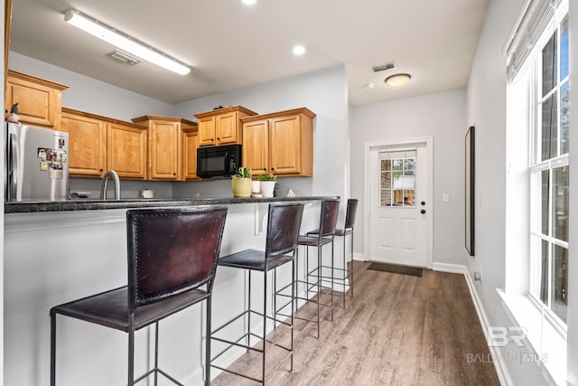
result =
M5 109L10 112L14 103L18 103L20 122L23 125L61 130L62 91L64 89L68 89L68 86L8 70Z

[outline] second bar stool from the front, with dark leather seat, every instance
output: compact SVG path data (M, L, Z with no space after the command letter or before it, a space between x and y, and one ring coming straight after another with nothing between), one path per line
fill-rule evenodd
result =
M247 309L243 311L240 315L235 316L231 320L229 320L224 325L221 325L219 328L214 330L210 334L210 339L221 342L224 344L228 344L228 347L217 354L215 357L211 358L210 365L216 369L219 369L223 372L230 372L232 374L247 378L252 381L256 381L265 385L265 371L266 371L266 347L268 344L275 344L275 346L280 347L289 353L291 357L291 372L293 372L293 338L294 338L294 319L293 315L290 317L290 322L285 322L282 320L277 320L276 310L272 310L272 315L267 315L267 305L266 305L266 290L267 290L267 272L270 270L275 270L276 268L281 267L285 263L291 262L292 264L292 279L291 279L291 286L294 286L294 255L295 249L297 248L297 236L299 235L299 228L301 227L301 219L303 216L303 203L284 203L284 204L270 204L269 205L269 217L267 220L267 233L266 233L266 248L265 250L257 250L257 249L245 249L237 253L233 253L232 255L228 255L222 257L218 260L218 265L221 267L229 267L229 268L241 268L248 270L248 301L247 301ZM251 309L251 272L252 271L259 271L263 272L263 312L260 313L256 310ZM275 298L276 294L276 283L274 283L273 288L273 297ZM294 289L292 287L291 290L292 294L294 294ZM290 306L293 310L294 307L294 297L291 297L291 303L287 304L286 306ZM275 307L275 306L274 306ZM282 307L283 308L283 307ZM262 317L263 323L263 333L261 336L258 334L253 334L251 332L251 314L258 315ZM228 339L220 338L216 336L221 330L223 330L228 325L231 325L233 322L243 320L246 322L247 332L243 334L238 340L231 341ZM266 325L267 320L274 321L274 325L276 326L277 323L281 325L286 325L291 331L291 344L289 347L282 344L276 344L275 342L270 342L266 339ZM259 349L257 347L251 346L250 338L251 336L256 337L263 342L263 348ZM246 344L241 344L240 342L245 339ZM243 347L247 349L247 351L253 351L256 353L261 353L263 355L262 358L262 373L261 379L258 379L254 376L250 376L248 374L242 374L240 372L234 372L232 370L228 370L224 367L221 367L214 362L219 358L220 355L226 353L232 347Z

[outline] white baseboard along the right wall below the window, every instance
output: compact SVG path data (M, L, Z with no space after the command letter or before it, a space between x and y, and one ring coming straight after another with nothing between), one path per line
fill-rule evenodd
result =
M480 297L478 297L478 292L476 287L473 285L473 280L471 279L470 272L466 266L461 266L459 264L446 264L446 263L433 263L433 270L439 272L448 273L458 273L464 276L468 288L470 288L471 301L473 306L476 308L476 313L478 314L478 319L480 319L481 330L486 338L486 344L488 344L488 330L489 322L486 312L484 311L483 305L481 304ZM493 358L499 358L500 352L498 347L493 347L488 344L489 353ZM508 369L506 368L506 363L503 361L492 361L494 367L496 368L496 373L498 374L499 383L501 385L513 385L511 378L509 377Z

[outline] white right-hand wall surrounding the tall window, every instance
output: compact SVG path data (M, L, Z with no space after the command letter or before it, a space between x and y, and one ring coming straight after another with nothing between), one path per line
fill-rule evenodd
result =
M489 4L486 19L478 42L478 49L471 70L468 85L468 124L476 126L476 257L466 259L470 274L478 270L482 280L476 282L475 290L489 319L489 325L512 325L496 288L505 286L506 271L506 212L507 212L507 79L506 58L501 50L508 33L516 22L525 0L500 1L492 0ZM571 36L578 35L578 12L576 3L570 2ZM571 51L573 58L572 73L576 68L576 52ZM578 95L571 88L571 104L577 106ZM573 127L576 125L572 121ZM570 164L576 160L578 152L571 152ZM576 189L576 170L570 167L571 192ZM573 202L571 200L571 202ZM578 243L578 225L576 216L571 216L570 244ZM575 261L578 253L570 249L570 259ZM578 265L570 264L570 276L578 277ZM571 280L570 292L576 294L576 280ZM568 382L578 384L578 297L568 297ZM511 349L508 346L508 349ZM515 347L513 348L515 349ZM521 349L520 349L521 351ZM543 384L541 369L534 363L505 362L509 376L514 384Z

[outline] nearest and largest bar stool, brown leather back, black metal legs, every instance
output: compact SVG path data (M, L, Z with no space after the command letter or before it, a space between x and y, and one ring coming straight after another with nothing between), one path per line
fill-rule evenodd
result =
M128 285L51 308L51 385L56 384L56 315L128 333L128 384L154 373L182 385L158 367L159 321L201 301L207 306L206 361L210 358L211 290L227 208L140 209L126 212ZM202 286L206 286L202 289ZM155 325L154 369L135 379L135 331ZM210 366L205 369L210 384Z

